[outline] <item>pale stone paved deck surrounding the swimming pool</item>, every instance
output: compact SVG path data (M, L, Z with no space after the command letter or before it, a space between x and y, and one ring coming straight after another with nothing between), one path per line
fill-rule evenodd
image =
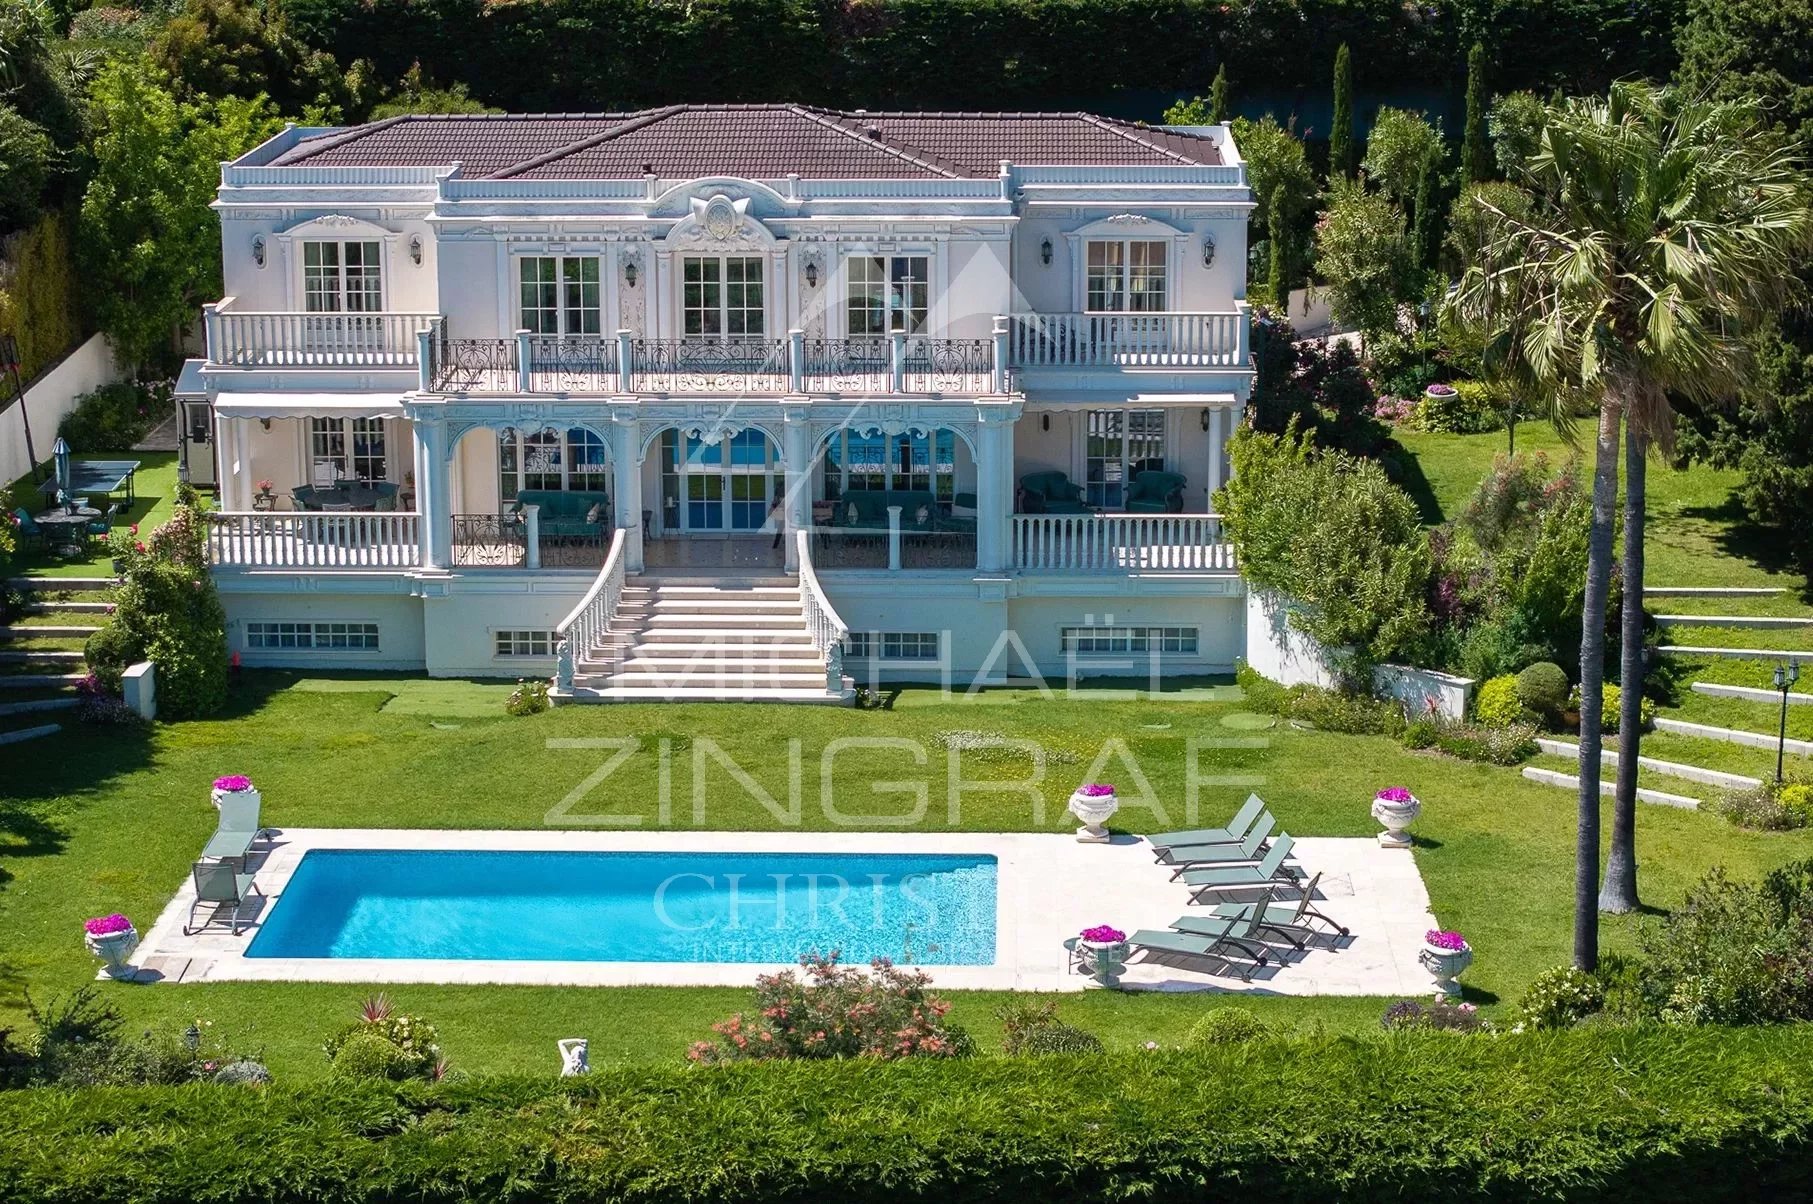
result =
M749 986L781 966L756 963L658 961L457 961L372 957L247 957L263 916L281 905L310 849L450 849L555 852L872 852L992 854L997 858L995 961L983 966L926 965L946 990L1086 990L1090 979L1066 968L1062 941L1090 925L1166 928L1186 914L1189 890L1157 865L1133 836L1110 845L1046 834L981 832L567 832L283 829L252 854L265 901L247 908L250 927L232 936L223 921L183 934L194 899L185 881L145 934L132 965L147 983L310 981L310 983L499 983L535 986ZM1316 907L1351 930L1327 925L1309 948L1273 939L1267 965L1246 983L1207 959L1135 956L1124 986L1133 990L1226 990L1278 995L1427 995L1434 983L1416 956L1436 927L1429 892L1411 852L1374 840L1298 838L1293 858L1320 870ZM1235 894L1224 899L1238 898ZM1294 894L1291 896L1294 898ZM1242 963L1249 968L1251 963Z

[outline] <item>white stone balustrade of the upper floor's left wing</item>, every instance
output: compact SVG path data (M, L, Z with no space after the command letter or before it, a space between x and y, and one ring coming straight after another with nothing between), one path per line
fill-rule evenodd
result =
M257 314L234 299L203 310L208 363L236 368L410 368L435 314Z

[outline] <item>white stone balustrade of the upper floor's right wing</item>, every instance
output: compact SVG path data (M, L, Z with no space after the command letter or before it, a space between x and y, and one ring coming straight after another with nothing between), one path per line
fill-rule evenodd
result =
M1246 310L1231 314L1013 314L1015 368L1246 368Z

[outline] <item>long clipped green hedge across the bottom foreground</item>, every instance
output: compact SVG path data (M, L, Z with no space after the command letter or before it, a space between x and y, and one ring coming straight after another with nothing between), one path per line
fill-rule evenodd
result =
M33 1090L0 1133L9 1204L1737 1200L1813 1191L1813 1030Z

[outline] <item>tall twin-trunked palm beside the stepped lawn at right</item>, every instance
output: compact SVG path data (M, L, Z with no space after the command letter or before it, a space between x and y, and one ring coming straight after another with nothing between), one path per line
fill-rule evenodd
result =
M1626 687L1608 910L1635 907L1644 459L1672 441L1670 395L1717 404L1751 379L1746 337L1795 296L1795 263L1813 250L1813 190L1753 105L1643 83L1550 105L1539 150L1514 183L1530 194L1527 216L1474 194L1490 236L1450 306L1485 330L1487 366L1550 399L1565 433L1597 410L1574 872L1574 961L1590 970L1599 959L1599 733L1619 428L1630 430Z

